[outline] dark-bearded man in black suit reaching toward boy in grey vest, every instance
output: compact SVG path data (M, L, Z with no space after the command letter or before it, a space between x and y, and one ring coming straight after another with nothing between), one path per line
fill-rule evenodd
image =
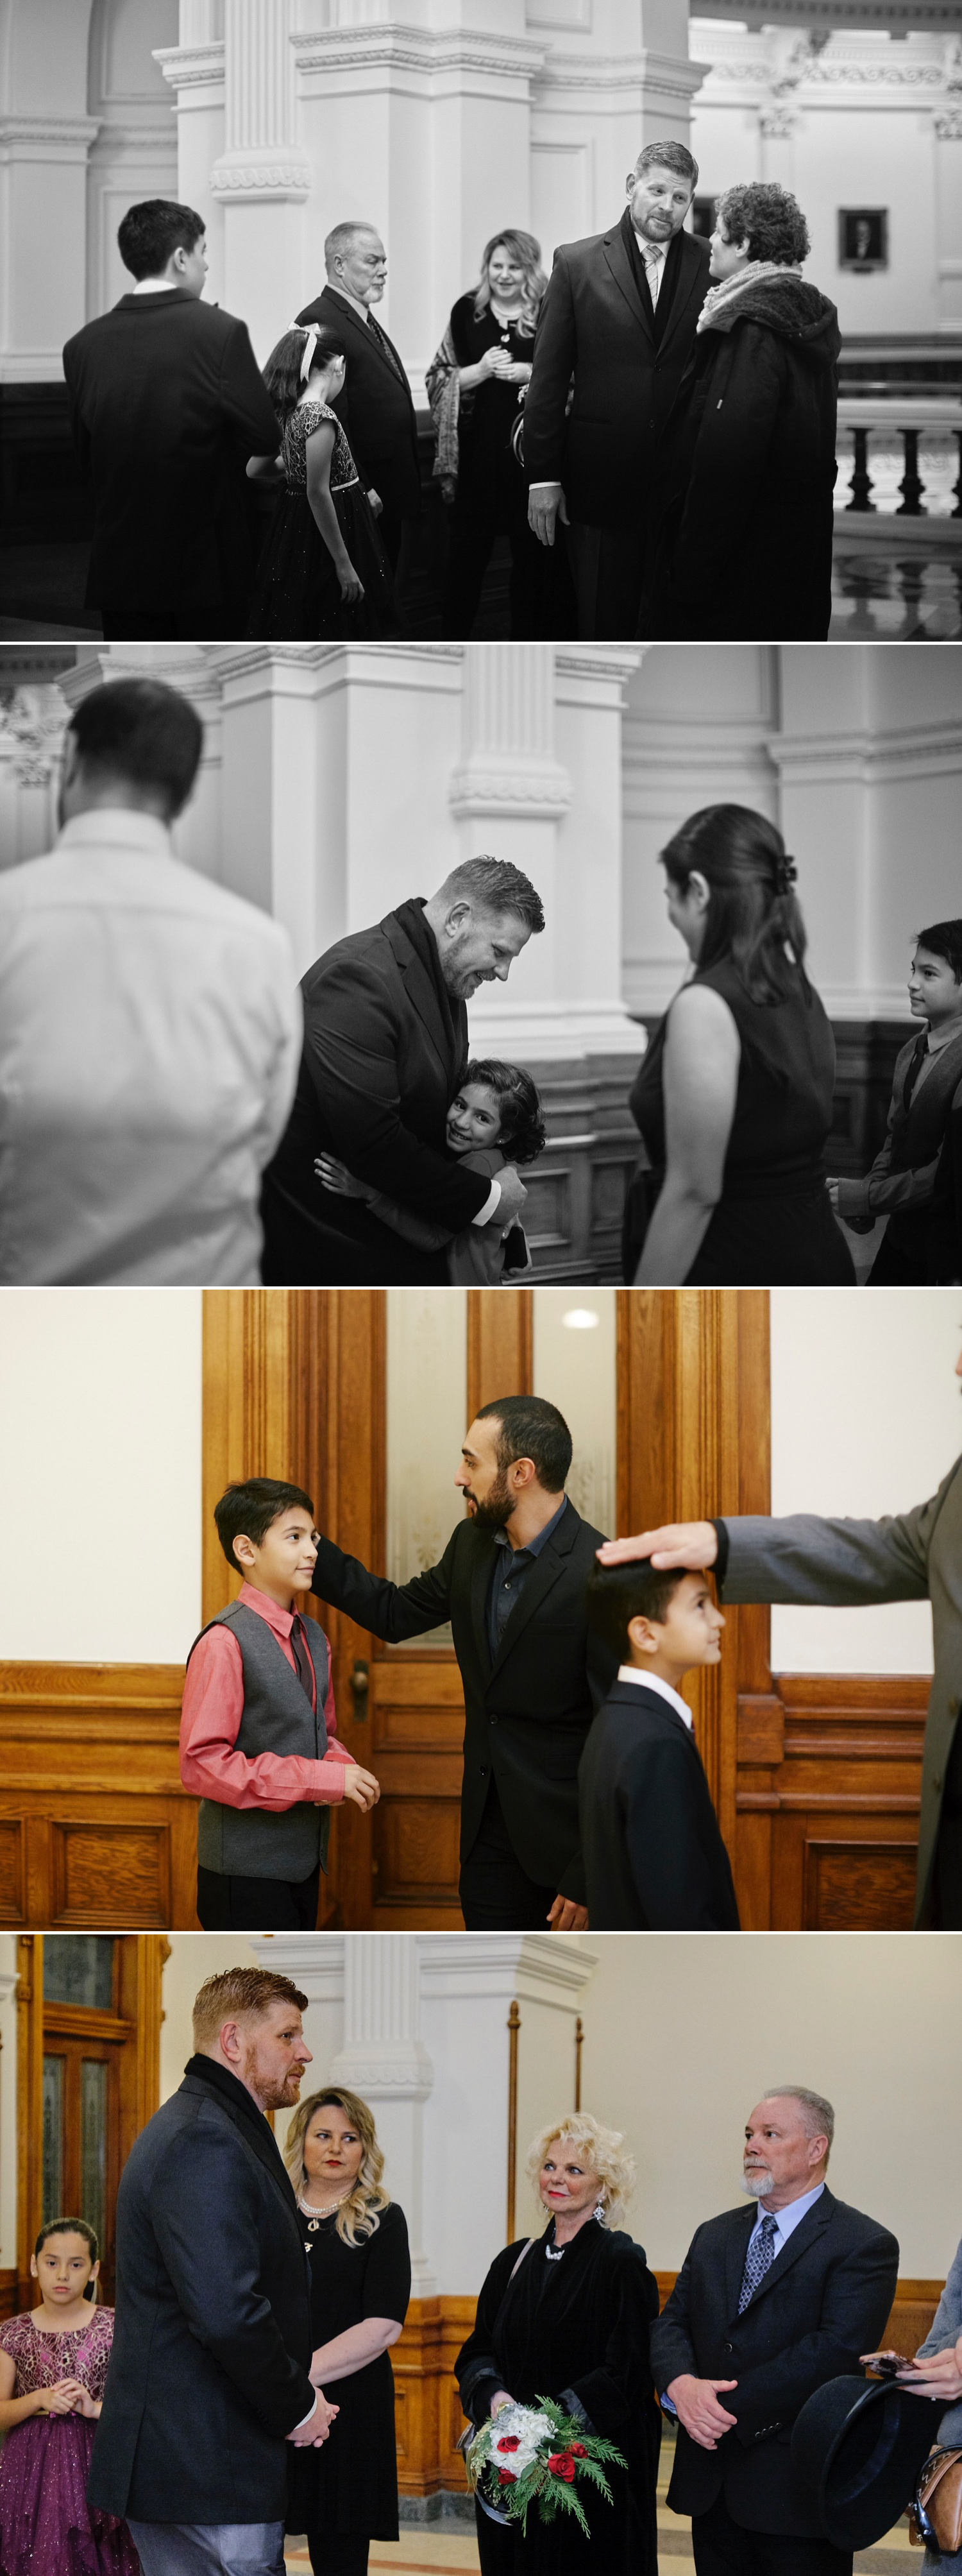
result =
M388 1643L453 1625L466 1695L460 1909L468 1932L579 1932L579 1759L615 1656L586 1628L599 1546L563 1484L571 1432L543 1396L484 1404L440 1566L388 1584L319 1540L314 1592Z

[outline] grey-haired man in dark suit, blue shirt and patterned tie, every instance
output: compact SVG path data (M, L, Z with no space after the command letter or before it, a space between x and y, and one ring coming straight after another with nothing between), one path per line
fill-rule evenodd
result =
M669 2506L692 2514L697 2576L851 2576L790 2439L805 2398L880 2347L898 2241L828 2190L833 2125L805 2084L764 2094L743 2148L759 2210L697 2228L651 2331L653 2380L679 2419Z

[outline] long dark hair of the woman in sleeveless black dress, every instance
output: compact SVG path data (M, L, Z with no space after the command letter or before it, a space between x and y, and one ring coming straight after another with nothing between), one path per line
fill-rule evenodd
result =
M702 806L661 850L671 886L684 894L697 868L707 884L707 917L694 981L731 958L751 1002L785 1002L805 976L805 922L792 891L795 860L782 832L751 806Z

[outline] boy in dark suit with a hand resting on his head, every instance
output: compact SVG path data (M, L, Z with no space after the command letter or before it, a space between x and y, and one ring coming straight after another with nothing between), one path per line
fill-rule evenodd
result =
M640 1577L640 1582L638 1582ZM617 1654L617 1680L579 1765L592 1932L738 1932L728 1852L679 1695L720 1662L707 1574L594 1566L589 1633Z

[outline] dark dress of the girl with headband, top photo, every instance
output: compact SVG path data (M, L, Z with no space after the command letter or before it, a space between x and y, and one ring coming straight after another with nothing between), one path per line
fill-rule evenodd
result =
M329 420L334 430L329 484L337 526L365 590L355 608L340 595L334 556L324 546L306 497L306 440L322 428L322 420ZM280 456L288 487L280 492L265 536L247 634L257 639L283 636L298 644L314 644L324 636L378 641L404 634L378 520L360 487L337 412L327 402L298 402L283 425Z

